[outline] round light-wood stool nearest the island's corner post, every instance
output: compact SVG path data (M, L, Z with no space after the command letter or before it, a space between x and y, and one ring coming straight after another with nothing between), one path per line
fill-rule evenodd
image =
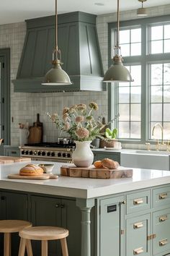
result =
M25 247L31 244L30 240L41 240L41 255L48 256L48 240L61 240L63 256L68 256L66 237L68 230L55 226L32 226L19 231L21 242L19 246L19 256L24 256ZM29 247L30 248L30 247ZM32 256L32 251L30 255Z

